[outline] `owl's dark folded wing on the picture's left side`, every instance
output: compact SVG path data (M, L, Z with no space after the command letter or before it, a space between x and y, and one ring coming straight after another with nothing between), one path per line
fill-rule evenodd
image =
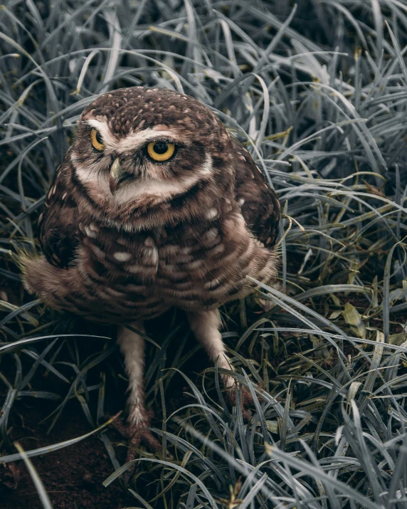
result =
M39 219L40 244L49 263L67 268L79 243L78 212L69 191L69 164L56 173Z

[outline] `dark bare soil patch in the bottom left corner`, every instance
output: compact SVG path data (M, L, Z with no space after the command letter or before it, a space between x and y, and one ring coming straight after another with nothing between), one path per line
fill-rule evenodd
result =
M11 439L18 439L25 450L56 444L90 431L85 416L78 411L78 405L72 404L63 412L51 433L46 434L47 425L38 424L38 421L49 413L49 409L43 406L45 405L38 404L27 409L24 405L24 409L21 409L23 419L20 418L19 424L13 424ZM115 431L109 431L109 434L115 435ZM120 440L119 436L117 440ZM123 453L125 455L125 447ZM134 506L136 502L132 495L123 490L119 481L107 488L102 486L102 481L115 469L104 444L97 436L90 436L73 446L31 458L31 461L43 481L54 509L122 509ZM2 509L43 507L22 461L7 463L2 470L1 480L5 481L0 485Z

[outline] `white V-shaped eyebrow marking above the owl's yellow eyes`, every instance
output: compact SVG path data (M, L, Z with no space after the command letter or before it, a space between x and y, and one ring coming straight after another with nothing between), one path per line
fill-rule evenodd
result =
M157 127L147 127L142 131L131 131L121 139L117 139L110 130L107 122L103 120L90 119L85 121L91 127L95 127L102 136L105 147L117 150L118 152L133 152L141 148L147 142L164 138L169 142L176 142L176 132L174 130L162 130Z

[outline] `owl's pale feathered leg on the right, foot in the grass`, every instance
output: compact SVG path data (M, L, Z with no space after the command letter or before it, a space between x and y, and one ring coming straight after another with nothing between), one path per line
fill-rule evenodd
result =
M225 345L223 345L221 336L221 317L218 310L209 311L196 311L187 313L189 326L192 332L204 350L208 354L208 357L213 361L217 362L218 367L224 369L233 369L231 361L225 352ZM228 389L226 394L231 404L236 404L236 384L235 379L227 374L221 375L223 386ZM242 387L242 412L245 420L250 419L251 412L246 408L246 405L253 403L253 399L250 396L245 387Z

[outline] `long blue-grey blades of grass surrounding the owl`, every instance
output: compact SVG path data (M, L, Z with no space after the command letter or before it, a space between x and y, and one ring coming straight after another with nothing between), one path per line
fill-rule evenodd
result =
M32 300L16 253L36 243L85 105L154 85L215 110L267 175L283 211L282 289L259 288L267 313L254 298L222 310L255 400L249 424L216 370L196 375L208 363L179 315L152 333L147 398L163 450L141 451L134 506L407 508L406 2L10 0L0 23L0 463L21 458L18 401L51 402L50 426L75 401L112 461L105 486L126 468L98 428L124 377L112 331Z

